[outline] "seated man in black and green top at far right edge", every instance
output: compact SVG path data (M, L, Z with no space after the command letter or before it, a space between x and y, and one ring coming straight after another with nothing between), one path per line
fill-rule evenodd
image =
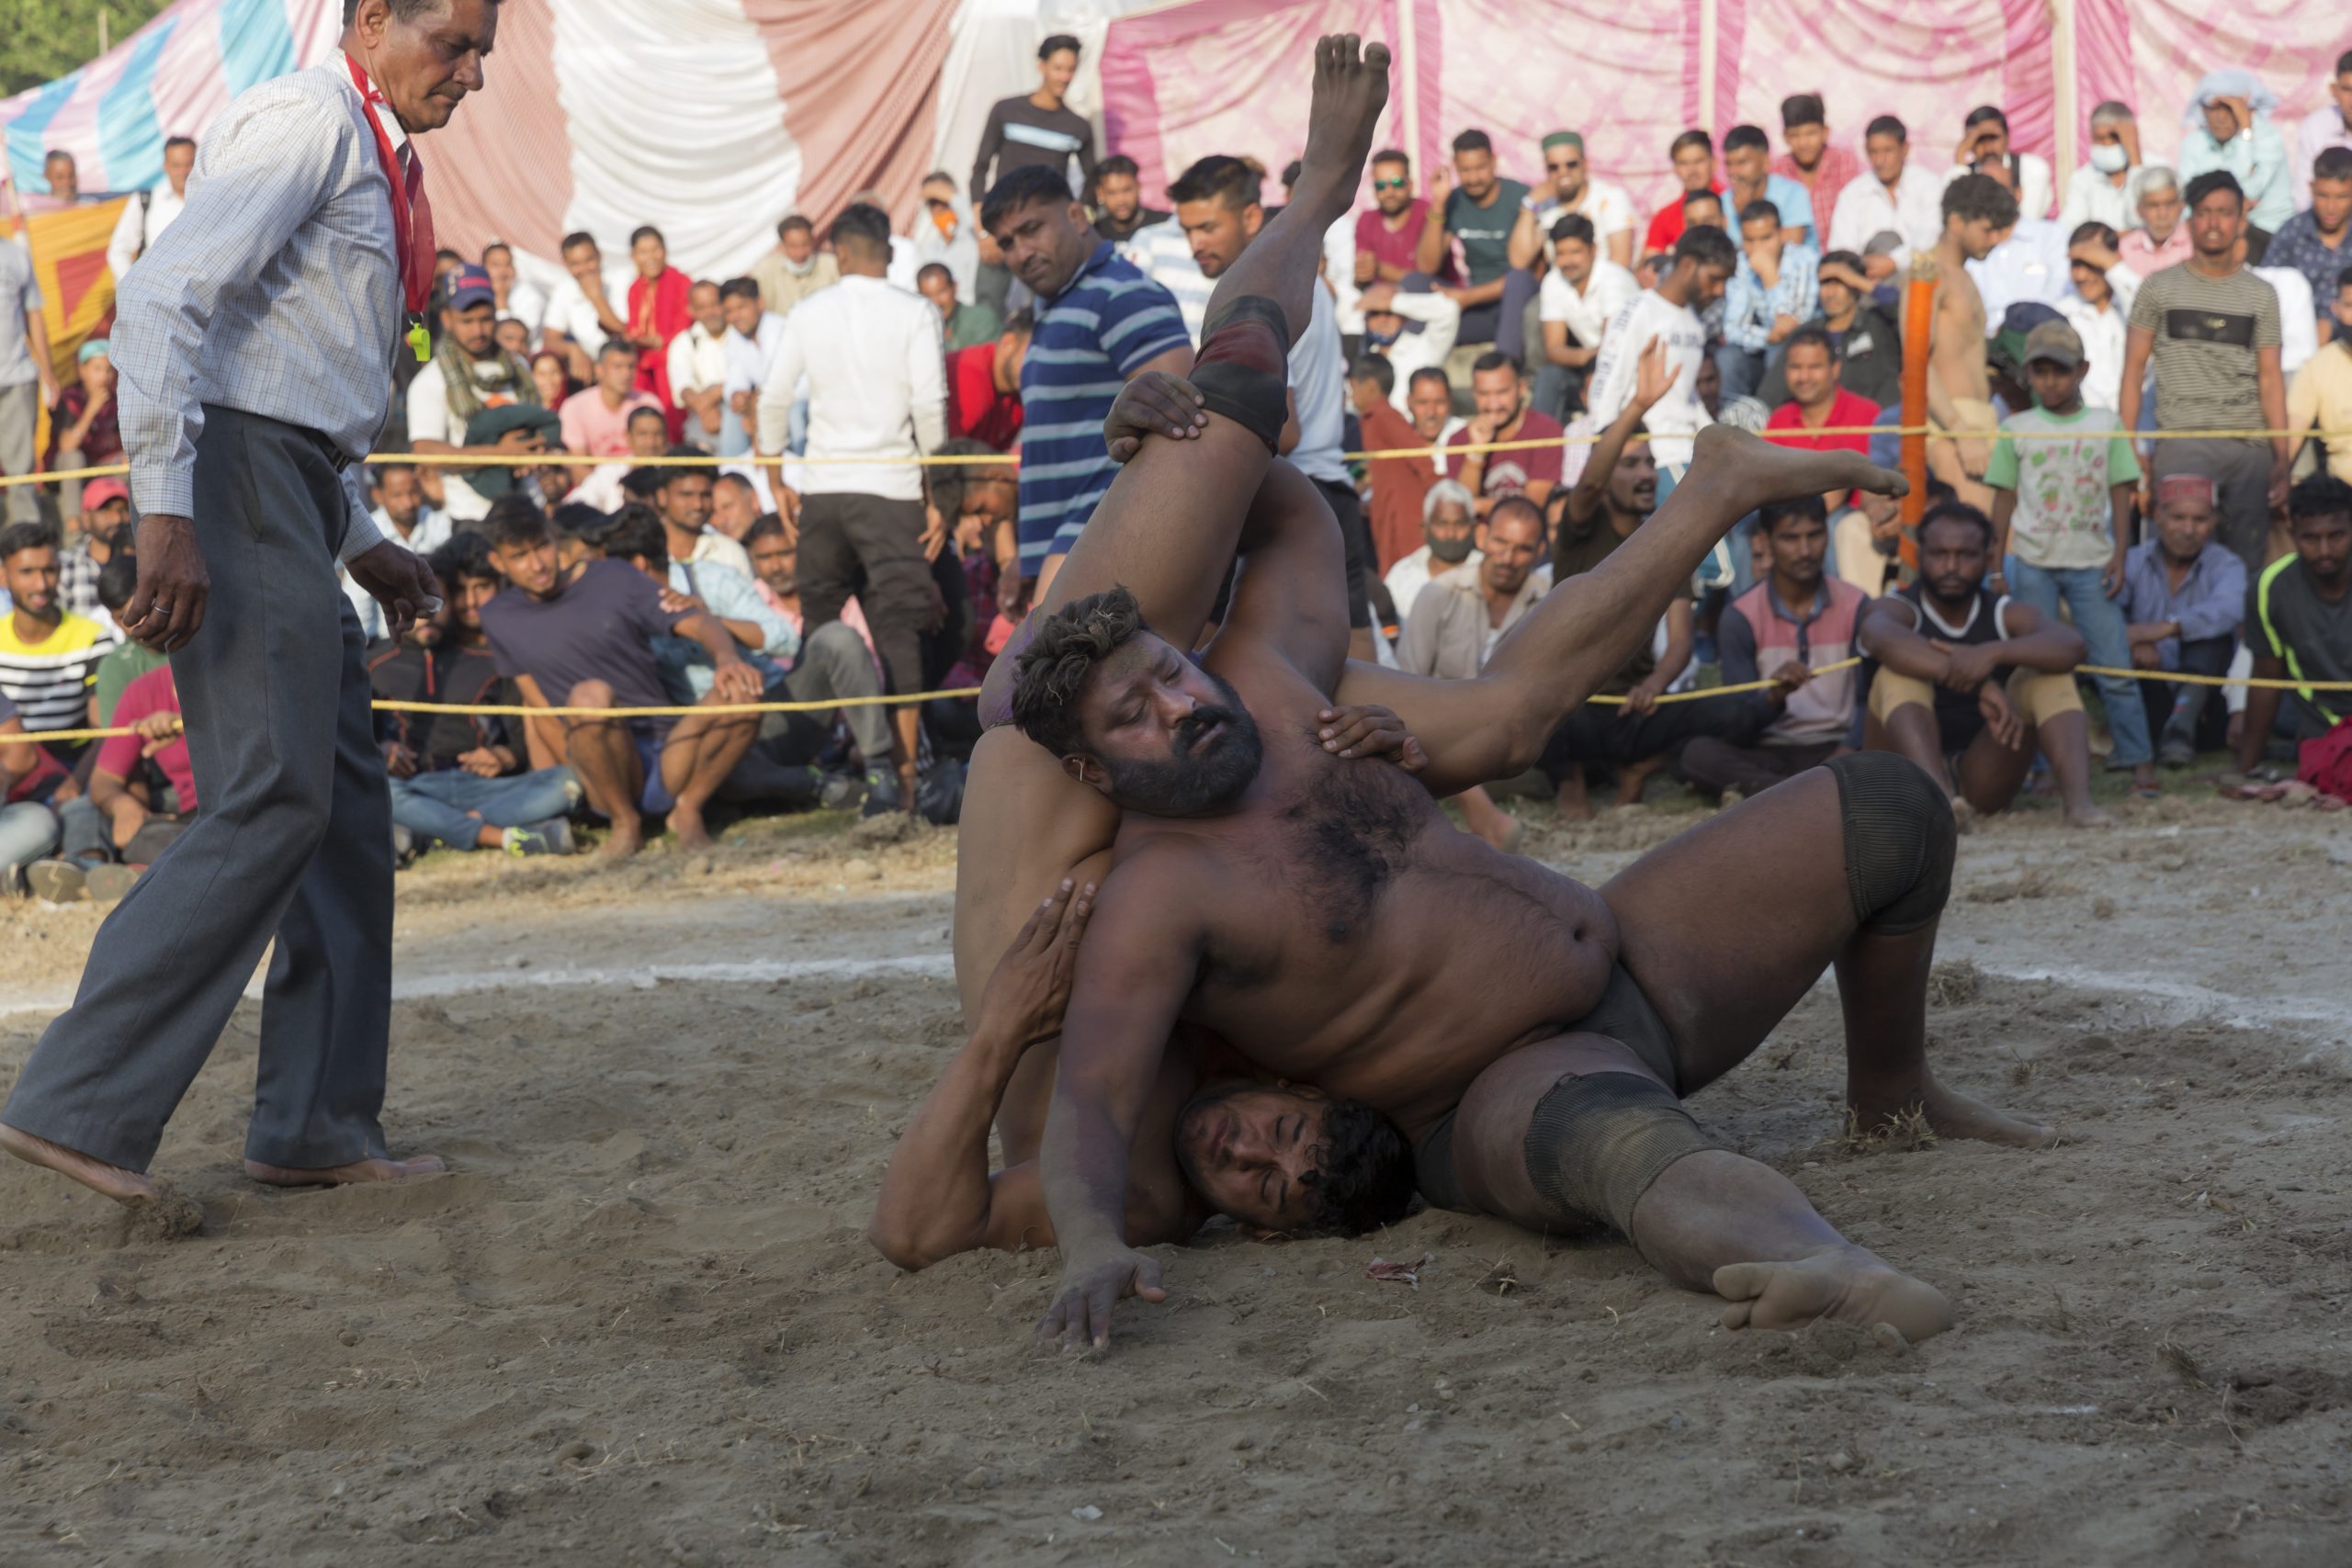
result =
M2293 555L2270 562L2246 595L2246 646L2260 679L2352 682L2352 484L2312 475L2286 498ZM2284 698L2284 701L2281 701ZM2246 693L2237 764L2293 757L2352 717L2343 691L2256 686Z

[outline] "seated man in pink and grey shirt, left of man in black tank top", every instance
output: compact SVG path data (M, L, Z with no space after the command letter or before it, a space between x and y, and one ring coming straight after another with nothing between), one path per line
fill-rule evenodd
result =
M1785 778L1844 755L1858 712L1856 670L1830 670L1853 656L1853 632L1870 595L1825 574L1828 512L1813 496L1764 508L1757 529L1769 567L1757 585L1724 609L1715 646L1724 684L1771 679L1769 691L1708 698L1693 708L1745 708L1752 745L1731 736L1696 736L1675 773L1700 790L1762 795ZM1726 717L1731 717L1726 712Z

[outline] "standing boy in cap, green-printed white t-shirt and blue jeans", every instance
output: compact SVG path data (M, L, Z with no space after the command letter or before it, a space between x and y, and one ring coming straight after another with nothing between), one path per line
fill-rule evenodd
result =
M2114 409L2084 407L2086 364L2070 324L2042 322L2025 334L2025 378L2039 407L2002 421L1985 465L1994 491L1987 588L2013 592L2051 621L2063 599L2091 644L2091 663L2129 670L2131 639L2114 597L2124 592L2124 531L2140 461ZM2131 769L2133 795L2157 795L2138 684L2122 675L2093 679L2114 738L2107 766Z

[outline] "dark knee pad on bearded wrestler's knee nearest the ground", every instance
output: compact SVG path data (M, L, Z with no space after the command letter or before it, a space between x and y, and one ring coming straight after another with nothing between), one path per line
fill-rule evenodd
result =
M1682 1100L1639 1072L1569 1074L1526 1124L1526 1175L1562 1225L1632 1234L1632 1206L1670 1164L1719 1150Z

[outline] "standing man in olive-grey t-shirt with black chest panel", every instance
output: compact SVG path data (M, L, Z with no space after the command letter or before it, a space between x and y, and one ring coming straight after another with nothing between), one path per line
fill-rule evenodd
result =
M2284 430L2279 294L2239 261L2244 193L2225 172L2187 188L2197 254L2140 284L2124 348L2124 430L2140 428L2140 386L2157 367L2159 430ZM2220 498L2220 541L2258 574L2270 512L2286 503L2293 440L2197 437L2154 442L2154 477L2201 473Z

